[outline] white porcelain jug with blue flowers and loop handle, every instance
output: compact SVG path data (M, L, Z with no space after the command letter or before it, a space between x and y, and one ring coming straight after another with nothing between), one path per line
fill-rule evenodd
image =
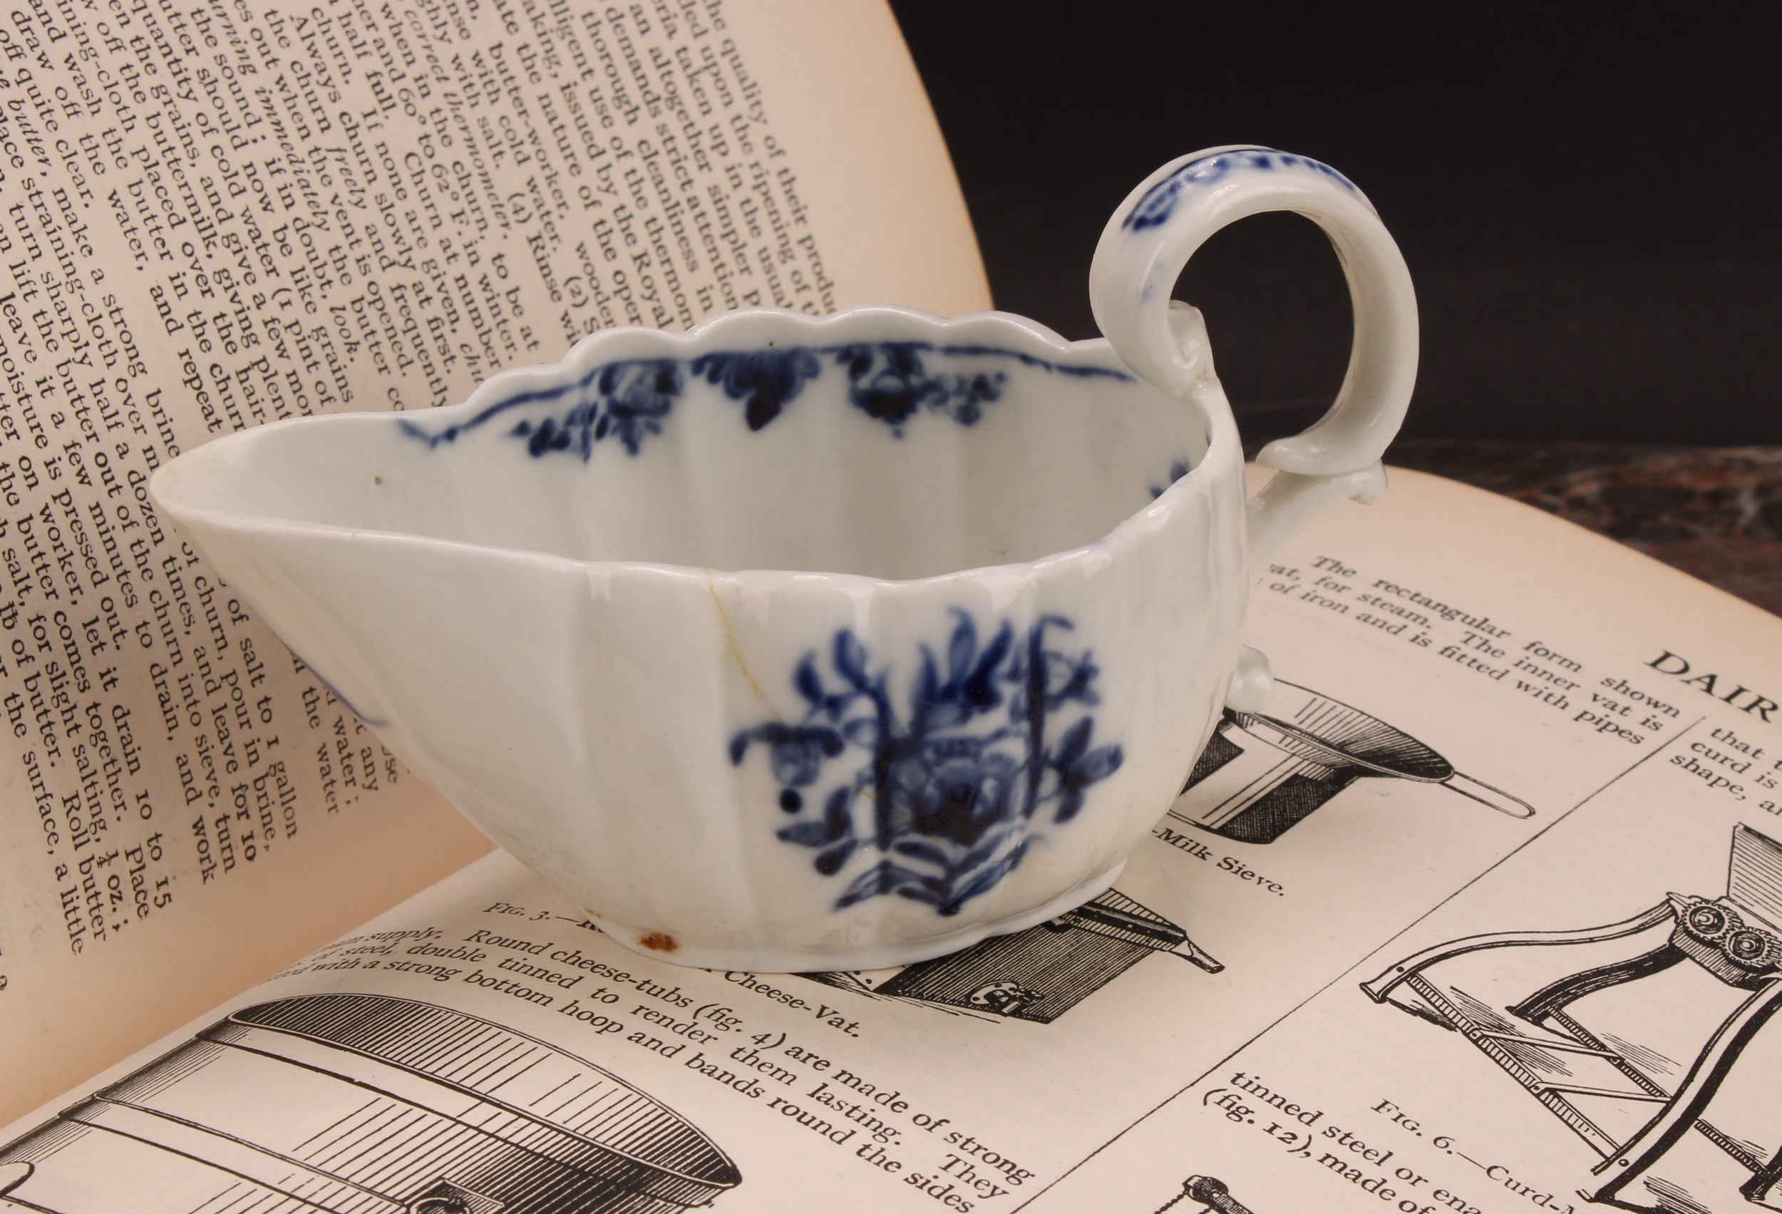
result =
M1331 414L1242 453L1194 248L1301 210L1360 319ZM611 330L463 405L219 439L151 492L290 649L620 943L902 964L1096 897L1181 788L1255 563L1383 487L1415 374L1392 239L1331 169L1183 157L1110 219L1110 340L1007 314Z

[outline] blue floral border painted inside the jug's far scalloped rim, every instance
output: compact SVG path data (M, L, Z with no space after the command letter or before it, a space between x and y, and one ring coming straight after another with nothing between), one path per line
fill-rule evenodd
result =
M1009 380L1005 371L930 369L932 358L998 358L1048 374L1133 381L1130 373L1116 367L1060 364L1001 346L939 346L925 340L768 346L691 358L604 362L579 380L520 392L444 430L429 431L406 417L399 424L408 437L438 447L510 410L568 398L568 406L558 414L520 419L508 430L508 437L522 440L533 458L567 453L588 460L595 446L608 439L617 439L629 455L638 455L650 435L661 433L663 421L688 383L697 380L716 385L729 399L741 403L750 430L768 426L829 367L848 376L848 403L889 426L896 437L903 435L903 424L918 412L952 417L960 426L977 424L984 406L1001 398Z

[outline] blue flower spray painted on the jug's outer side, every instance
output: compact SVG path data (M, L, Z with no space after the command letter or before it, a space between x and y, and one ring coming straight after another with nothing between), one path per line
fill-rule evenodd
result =
M1003 620L984 640L969 613L953 617L944 654L921 645L907 674L838 631L791 676L802 718L731 740L736 765L764 756L789 816L777 834L809 849L816 872L834 877L871 857L836 909L896 895L959 915L1021 865L1041 827L1069 824L1124 758L1096 743L1099 670L1091 651L1057 645L1073 631L1067 619Z

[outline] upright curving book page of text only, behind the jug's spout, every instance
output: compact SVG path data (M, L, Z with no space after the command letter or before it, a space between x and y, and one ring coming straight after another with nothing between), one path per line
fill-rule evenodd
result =
M0 1116L488 849L157 517L597 328L989 307L875 0L0 21Z

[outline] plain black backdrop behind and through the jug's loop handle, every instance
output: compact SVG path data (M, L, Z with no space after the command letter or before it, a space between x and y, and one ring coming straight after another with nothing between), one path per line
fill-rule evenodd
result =
M996 305L1096 335L1101 225L1205 146L1317 157L1397 237L1422 312L1404 433L1782 442L1782 66L1752 5L893 0ZM1349 299L1258 216L1176 296L1246 440L1322 412Z

